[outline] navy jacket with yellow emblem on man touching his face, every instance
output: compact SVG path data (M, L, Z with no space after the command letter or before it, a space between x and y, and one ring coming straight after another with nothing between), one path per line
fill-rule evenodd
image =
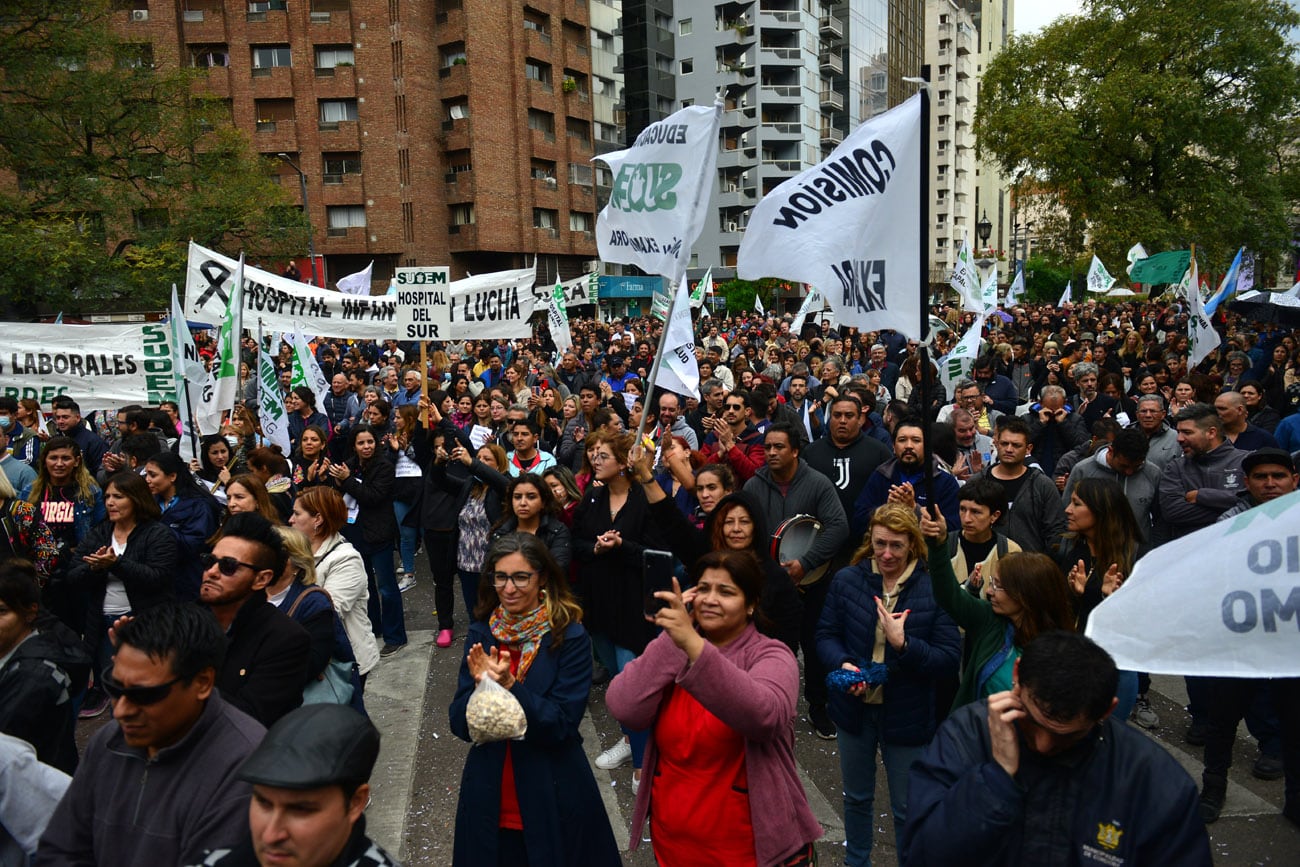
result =
M1187 771L1114 719L1052 758L1022 740L1020 767L1008 776L980 699L953 711L911 766L898 848L913 866L1209 867L1196 803Z

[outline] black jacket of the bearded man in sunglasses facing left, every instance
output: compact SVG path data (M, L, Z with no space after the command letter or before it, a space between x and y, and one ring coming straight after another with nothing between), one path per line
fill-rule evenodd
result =
M217 671L221 698L270 728L303 703L311 649L308 632L255 590L226 630L226 658Z

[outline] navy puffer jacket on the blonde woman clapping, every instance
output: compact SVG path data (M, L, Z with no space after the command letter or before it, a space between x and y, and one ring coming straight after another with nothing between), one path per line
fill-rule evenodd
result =
M826 607L816 624L816 653L822 664L835 671L842 663L866 667L876 643L876 597L884 578L868 568L868 560L835 573ZM902 585L894 611L910 611L904 623L906 653L885 642L884 663L889 680L884 686L881 740L900 746L920 746L935 733L935 681L957 675L962 637L948 612L935 602L926 562ZM861 734L866 705L861 698L831 692L827 710L835 724Z

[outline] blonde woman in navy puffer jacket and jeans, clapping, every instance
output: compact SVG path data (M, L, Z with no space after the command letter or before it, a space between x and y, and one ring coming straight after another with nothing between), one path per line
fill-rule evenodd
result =
M871 863L876 754L889 785L894 840L907 815L907 770L939 727L939 686L957 676L961 633L935 603L926 541L910 507L885 503L850 564L831 581L816 627L827 671L885 667L887 680L831 690L844 777L845 863Z

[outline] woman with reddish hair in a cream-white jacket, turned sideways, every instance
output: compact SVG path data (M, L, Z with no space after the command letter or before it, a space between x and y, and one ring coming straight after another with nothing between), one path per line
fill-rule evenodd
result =
M347 523L347 506L333 487L316 486L303 491L294 502L290 526L303 533L312 545L317 585L329 593L347 633L356 658L361 686L365 676L380 662L380 646L370 629L367 607L370 599L365 563L339 530Z

